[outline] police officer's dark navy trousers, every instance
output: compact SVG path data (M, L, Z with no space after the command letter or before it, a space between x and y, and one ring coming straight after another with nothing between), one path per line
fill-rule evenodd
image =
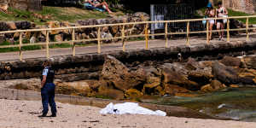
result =
M42 104L43 104L43 113L48 113L48 103L52 114L57 112L55 104L55 84L46 83L41 89Z

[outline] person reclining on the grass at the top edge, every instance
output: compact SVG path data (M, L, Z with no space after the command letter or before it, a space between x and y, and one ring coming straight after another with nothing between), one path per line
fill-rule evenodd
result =
M109 14L112 13L112 11L108 7L108 3L106 3L105 1L102 2L102 0L84 0L83 3L90 3L90 5L92 5L95 8L106 9Z

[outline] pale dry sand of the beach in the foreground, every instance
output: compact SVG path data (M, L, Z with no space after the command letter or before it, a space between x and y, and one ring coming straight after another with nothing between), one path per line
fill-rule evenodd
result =
M57 117L38 118L40 101L0 99L1 128L253 128L256 123L148 115L102 115L101 108L57 103ZM50 113L49 113L50 114Z

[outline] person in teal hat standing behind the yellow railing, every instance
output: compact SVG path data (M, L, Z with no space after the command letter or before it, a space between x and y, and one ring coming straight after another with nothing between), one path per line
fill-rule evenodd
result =
M205 12L205 15L206 15L207 18L214 18L215 17L215 10L212 7L212 3L207 4L207 10ZM208 20L208 22L209 22L210 26L208 28L209 33L207 33L207 34L208 34L210 40L212 40L212 27L214 26L215 20L211 19L211 20Z

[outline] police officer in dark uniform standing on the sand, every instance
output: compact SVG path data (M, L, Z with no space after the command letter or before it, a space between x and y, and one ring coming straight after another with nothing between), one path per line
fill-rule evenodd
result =
M39 117L46 117L48 113L48 103L51 108L51 117L56 117L56 105L55 105L55 84L53 83L55 77L55 71L51 67L50 61L44 61L44 71L41 77L41 96L43 104L43 114Z

